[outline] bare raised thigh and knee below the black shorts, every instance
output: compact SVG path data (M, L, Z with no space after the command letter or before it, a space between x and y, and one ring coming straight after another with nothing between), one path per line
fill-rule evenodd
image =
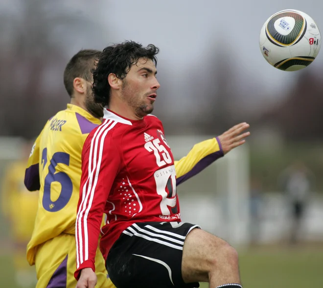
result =
M182 277L185 283L208 282L209 272L227 263L237 263L237 252L223 239L202 229L191 230L185 238Z

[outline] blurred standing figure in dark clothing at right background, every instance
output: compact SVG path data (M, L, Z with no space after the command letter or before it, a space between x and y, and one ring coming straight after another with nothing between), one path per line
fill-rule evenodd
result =
M314 190L315 177L303 162L296 160L281 172L278 185L285 192L292 214L289 243L297 244L304 212Z

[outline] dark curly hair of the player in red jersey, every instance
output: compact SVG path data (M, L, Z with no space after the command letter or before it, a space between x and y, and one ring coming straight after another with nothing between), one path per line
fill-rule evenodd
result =
M142 47L142 44L134 41L125 41L103 49L95 69L92 70L94 101L103 106L109 105L108 76L110 73L115 74L119 79L124 79L131 66L136 65L139 58L151 59L157 65L156 55L158 53L159 48L155 45L149 44L147 47Z

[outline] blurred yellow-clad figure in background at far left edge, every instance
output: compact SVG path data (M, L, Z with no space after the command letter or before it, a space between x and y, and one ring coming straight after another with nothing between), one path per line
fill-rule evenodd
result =
M26 260L26 246L34 228L38 193L30 193L23 183L32 144L23 144L22 159L11 163L2 179L2 212L9 222L15 279L19 287L32 287L36 283L35 269Z

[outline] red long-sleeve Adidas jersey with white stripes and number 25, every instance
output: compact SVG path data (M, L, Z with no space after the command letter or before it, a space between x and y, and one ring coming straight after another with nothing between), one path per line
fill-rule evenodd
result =
M133 121L105 111L82 151L76 219L77 270L94 270L103 213L100 250L108 252L123 230L137 222L181 221L174 159L161 121Z

